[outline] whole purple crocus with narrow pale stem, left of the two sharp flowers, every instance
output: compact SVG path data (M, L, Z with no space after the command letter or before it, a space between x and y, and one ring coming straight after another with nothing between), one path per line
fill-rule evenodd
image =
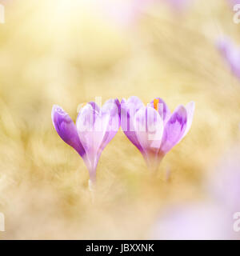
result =
M62 140L82 157L90 174L90 184L95 182L102 150L118 132L119 106L118 99L110 99L102 108L95 102L89 102L78 112L76 125L62 107L53 106L54 128Z

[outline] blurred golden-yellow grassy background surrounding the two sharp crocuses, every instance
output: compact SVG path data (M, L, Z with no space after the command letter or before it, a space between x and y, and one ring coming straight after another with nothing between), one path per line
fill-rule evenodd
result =
M216 47L225 35L240 45L236 2L0 3L0 239L207 238L209 218L210 238L240 238L240 80ZM193 100L193 125L154 176L119 130L92 202L86 166L58 137L51 108L75 120L82 102L131 95L161 97L172 111Z

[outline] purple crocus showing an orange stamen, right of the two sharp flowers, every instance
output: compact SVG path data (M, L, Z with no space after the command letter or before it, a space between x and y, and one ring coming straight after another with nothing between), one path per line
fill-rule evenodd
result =
M152 170L186 136L193 116L194 102L178 106L173 114L162 98L155 98L147 106L135 96L121 102L122 130Z

